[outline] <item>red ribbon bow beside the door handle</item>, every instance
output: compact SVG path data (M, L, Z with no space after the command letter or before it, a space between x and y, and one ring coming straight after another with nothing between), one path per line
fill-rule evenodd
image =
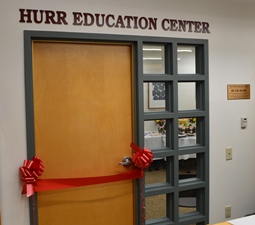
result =
M147 169L153 162L153 154L151 150L148 148L140 149L134 143L131 143L130 147L135 150L135 153L132 156L134 165L140 169Z

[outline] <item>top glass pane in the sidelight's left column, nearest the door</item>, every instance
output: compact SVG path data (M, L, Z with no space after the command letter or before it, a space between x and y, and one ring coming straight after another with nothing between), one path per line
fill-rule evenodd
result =
M164 46L143 46L143 73L164 74L165 73L165 51Z

